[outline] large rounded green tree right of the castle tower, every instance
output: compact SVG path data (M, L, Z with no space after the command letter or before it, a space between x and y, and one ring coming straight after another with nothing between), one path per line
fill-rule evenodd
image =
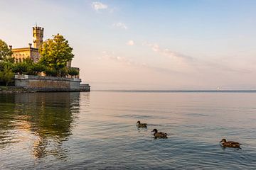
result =
M43 47L39 50L41 55L39 63L49 67L50 72L56 72L56 75L60 77L63 75L67 62L74 57L72 50L73 48L63 35L53 35L53 39L43 42Z

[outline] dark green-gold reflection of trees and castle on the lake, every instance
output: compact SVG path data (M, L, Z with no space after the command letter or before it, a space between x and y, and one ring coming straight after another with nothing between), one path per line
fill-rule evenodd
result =
M79 99L79 93L1 94L0 148L31 147L36 158L68 159L63 141L72 134Z

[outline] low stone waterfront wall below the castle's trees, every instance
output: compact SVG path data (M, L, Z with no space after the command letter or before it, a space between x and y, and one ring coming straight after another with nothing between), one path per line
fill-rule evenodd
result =
M33 91L81 91L81 79L63 77L40 77L15 75L15 86ZM82 86L83 91L90 91L90 86Z

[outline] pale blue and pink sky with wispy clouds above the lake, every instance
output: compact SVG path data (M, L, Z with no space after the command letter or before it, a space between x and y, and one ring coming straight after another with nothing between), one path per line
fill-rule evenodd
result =
M92 90L256 89L255 0L0 0L0 39L60 33Z

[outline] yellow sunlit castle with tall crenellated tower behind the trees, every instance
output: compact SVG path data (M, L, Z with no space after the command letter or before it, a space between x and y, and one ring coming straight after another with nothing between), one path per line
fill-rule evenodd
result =
M43 45L43 28L33 27L33 47L31 43L28 43L28 47L12 48L12 57L15 62L23 62L26 58L31 58L33 62L38 62L40 59L39 48ZM71 61L67 63L67 67L71 67Z

